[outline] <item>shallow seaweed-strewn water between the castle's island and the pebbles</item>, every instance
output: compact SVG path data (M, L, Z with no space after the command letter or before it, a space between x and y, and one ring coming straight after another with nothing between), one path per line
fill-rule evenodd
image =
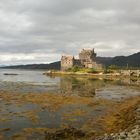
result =
M0 72L2 140L90 139L136 124L140 87L132 81L4 72Z

